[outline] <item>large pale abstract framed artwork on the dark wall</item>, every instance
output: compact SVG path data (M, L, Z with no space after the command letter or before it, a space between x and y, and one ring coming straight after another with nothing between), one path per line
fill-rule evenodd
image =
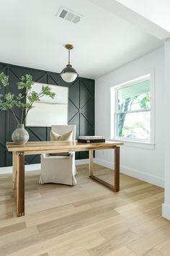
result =
M44 83L35 82L32 91L40 93ZM26 127L51 127L68 124L68 87L48 85L55 98L44 95L34 103L25 121Z

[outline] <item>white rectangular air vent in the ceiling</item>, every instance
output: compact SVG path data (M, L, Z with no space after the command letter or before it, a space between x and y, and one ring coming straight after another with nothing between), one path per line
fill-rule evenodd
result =
M65 7L61 7L56 16L75 24L81 20L81 17L83 17L83 15L73 12Z

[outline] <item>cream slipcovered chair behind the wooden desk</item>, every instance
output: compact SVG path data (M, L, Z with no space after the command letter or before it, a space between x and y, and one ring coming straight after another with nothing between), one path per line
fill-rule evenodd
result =
M75 125L53 125L51 130L59 135L73 131L72 140L76 140ZM39 184L58 183L75 185L75 175L75 152L69 152L68 155L41 155Z

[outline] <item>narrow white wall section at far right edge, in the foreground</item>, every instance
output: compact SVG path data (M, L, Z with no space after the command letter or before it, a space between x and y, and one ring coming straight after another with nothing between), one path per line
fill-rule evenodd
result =
M170 220L170 119L169 119L169 96L170 96L170 39L165 42L165 111L164 111L164 131L165 140L165 200L162 208L162 215Z

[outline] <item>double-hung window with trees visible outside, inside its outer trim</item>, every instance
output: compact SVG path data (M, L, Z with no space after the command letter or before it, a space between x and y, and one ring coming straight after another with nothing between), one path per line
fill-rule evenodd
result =
M150 74L112 88L111 101L115 102L112 138L136 142L153 141Z

